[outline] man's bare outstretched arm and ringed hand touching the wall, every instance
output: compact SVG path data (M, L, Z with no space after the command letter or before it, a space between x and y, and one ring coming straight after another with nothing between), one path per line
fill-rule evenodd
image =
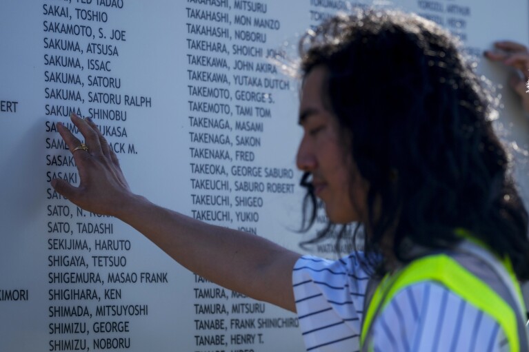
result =
M133 194L97 126L73 114L72 122L88 147L73 152L81 181L74 187L55 179L54 189L83 209L123 220L194 273L295 311L292 267L298 253L259 236L199 222ZM81 145L63 125L58 130L70 150Z

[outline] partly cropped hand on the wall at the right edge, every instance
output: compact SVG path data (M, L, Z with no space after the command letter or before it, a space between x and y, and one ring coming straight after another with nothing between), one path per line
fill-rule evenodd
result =
M529 112L529 93L527 93L527 81L529 80L528 49L525 45L512 41L497 41L494 46L495 50L485 52L486 58L499 61L518 70L518 74L513 74L510 77L509 83L520 96L523 108Z

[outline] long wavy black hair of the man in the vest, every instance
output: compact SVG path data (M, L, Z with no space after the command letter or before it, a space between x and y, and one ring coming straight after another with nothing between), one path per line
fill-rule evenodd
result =
M328 69L323 101L370 185L365 251L380 251L392 236L392 255L408 262L406 243L451 248L464 229L529 279L528 213L492 128L492 95L457 39L413 14L357 10L309 31L300 54L304 76L318 65ZM316 203L307 190L310 226Z

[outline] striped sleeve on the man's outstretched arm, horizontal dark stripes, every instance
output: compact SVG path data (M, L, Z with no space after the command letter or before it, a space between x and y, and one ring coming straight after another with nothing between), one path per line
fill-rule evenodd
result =
M307 351L358 351L363 298L369 277L361 254L331 261L301 257L292 282Z

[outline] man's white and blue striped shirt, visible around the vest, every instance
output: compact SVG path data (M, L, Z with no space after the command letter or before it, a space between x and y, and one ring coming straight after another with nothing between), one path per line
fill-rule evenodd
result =
M297 261L292 279L307 351L359 351L369 280L361 256ZM397 293L372 323L372 340L375 352L509 351L495 320L435 282Z

